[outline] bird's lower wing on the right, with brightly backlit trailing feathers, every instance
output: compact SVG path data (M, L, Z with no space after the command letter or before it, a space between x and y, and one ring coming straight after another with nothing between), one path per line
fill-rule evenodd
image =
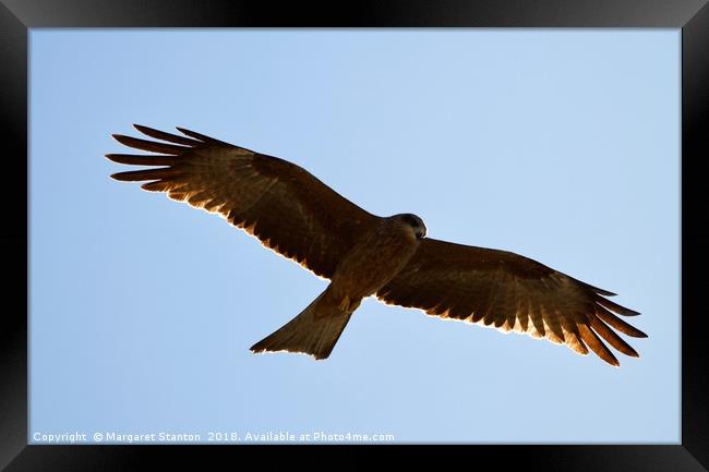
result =
M514 253L424 239L376 296L430 315L546 338L580 354L588 347L620 365L601 338L637 358L611 327L637 338L647 335L613 314L638 315L603 296L613 294Z

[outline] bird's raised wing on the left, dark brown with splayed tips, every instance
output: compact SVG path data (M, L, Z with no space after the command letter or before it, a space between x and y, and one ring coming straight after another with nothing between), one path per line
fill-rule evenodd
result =
M115 162L152 167L113 179L148 181L142 189L218 213L321 277L332 278L337 263L378 220L295 164L180 128L185 136L134 126L160 142L113 137L157 155L107 154Z

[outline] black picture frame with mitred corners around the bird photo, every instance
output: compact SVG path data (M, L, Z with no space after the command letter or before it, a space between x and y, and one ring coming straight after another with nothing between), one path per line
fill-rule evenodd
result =
M27 445L27 185L28 29L35 27L666 27L682 28L682 438L678 445L539 446L35 446ZM200 469L247 460L265 469L301 469L299 460L327 470L373 467L362 452L437 467L473 460L544 471L707 471L709 411L702 341L707 315L700 302L709 226L700 166L709 156L709 7L705 0L399 0L339 2L197 2L190 0L3 0L0 5L0 116L3 136L5 273L0 328L0 465L8 471ZM641 238L641 235L639 235ZM25 288L25 290L23 290ZM704 354L702 354L704 353ZM652 411L648 411L652 414ZM438 449L445 448L445 456ZM344 455L333 462L326 457ZM249 458L247 458L249 456ZM257 456L257 457L255 457ZM442 460L445 458L445 460ZM192 460L192 461L191 461ZM168 463L171 463L168 465ZM217 463L217 462L214 462ZM467 463L467 462L462 462ZM288 465L289 464L289 465ZM496 468L496 467L495 467Z

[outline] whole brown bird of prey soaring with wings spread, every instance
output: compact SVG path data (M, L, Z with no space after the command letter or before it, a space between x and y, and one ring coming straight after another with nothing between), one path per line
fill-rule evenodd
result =
M303 168L182 128L183 135L134 125L157 141L120 134L121 144L149 155L107 154L115 162L149 166L115 173L147 181L142 189L217 213L331 282L313 302L251 350L326 359L362 299L414 307L502 331L525 332L590 348L611 365L617 351L638 353L615 330L645 338L617 315L637 312L609 291L506 251L426 238L416 215L372 215Z

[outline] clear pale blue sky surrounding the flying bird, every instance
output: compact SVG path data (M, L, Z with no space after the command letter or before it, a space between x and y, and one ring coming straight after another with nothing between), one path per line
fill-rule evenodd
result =
M33 435L680 440L680 31L31 32ZM108 178L131 123L291 160L429 235L642 314L621 368L365 300L331 358L249 347L325 287Z

